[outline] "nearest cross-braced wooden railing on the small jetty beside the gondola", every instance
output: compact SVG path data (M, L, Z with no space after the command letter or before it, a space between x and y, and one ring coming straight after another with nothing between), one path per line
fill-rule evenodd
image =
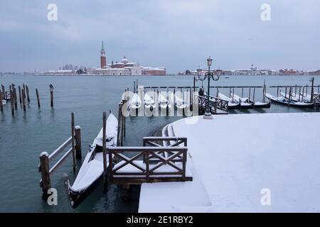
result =
M122 183L190 180L190 177L186 179L187 151L186 147L108 147L110 179ZM163 157L159 153L171 155ZM116 165L112 165L113 156L119 160ZM158 159L155 165L150 163L150 157ZM181 157L179 162L177 157Z

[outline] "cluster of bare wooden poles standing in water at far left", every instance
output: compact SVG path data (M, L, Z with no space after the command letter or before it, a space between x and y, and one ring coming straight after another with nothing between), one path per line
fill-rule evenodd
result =
M40 96L38 89L36 89L36 97L38 101L38 108L41 107L40 104ZM16 90L15 84L9 85L9 91L6 91L3 84L1 84L1 91L0 91L0 111L4 111L4 107L2 104L2 100L10 101L11 104L11 114L14 116L15 111L18 109L18 101L21 104L21 108L23 111L26 111L26 105L30 103L30 96L29 96L29 88L28 85L23 84L22 87L18 85L18 92ZM53 87L50 87L50 106L53 108Z

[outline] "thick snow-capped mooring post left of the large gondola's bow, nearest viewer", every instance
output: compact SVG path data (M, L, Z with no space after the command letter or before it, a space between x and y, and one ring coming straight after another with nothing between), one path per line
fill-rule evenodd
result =
M41 185L43 198L48 196L48 189L51 188L50 182L50 170L49 170L49 155L46 152L40 154L40 166L39 171L41 172Z

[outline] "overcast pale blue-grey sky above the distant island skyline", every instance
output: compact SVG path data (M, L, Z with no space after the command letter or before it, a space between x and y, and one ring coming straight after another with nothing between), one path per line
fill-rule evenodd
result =
M221 69L319 69L320 1L0 1L0 72L98 67L102 40L108 62L126 55L169 73L205 67L208 55Z

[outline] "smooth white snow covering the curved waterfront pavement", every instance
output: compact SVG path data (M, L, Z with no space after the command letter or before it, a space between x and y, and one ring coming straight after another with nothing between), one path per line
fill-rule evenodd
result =
M320 212L319 113L194 118L173 123L193 182L142 184L139 212Z

